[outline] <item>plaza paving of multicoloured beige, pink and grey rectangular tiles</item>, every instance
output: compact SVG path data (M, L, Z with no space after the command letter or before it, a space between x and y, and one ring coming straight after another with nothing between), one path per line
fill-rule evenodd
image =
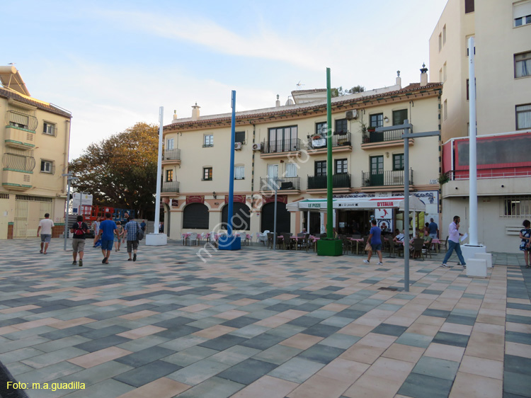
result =
M1 397L531 397L522 255L411 260L405 292L403 258L208 250L2 241Z

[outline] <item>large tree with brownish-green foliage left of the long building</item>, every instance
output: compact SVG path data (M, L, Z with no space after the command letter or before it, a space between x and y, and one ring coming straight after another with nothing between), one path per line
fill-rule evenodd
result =
M75 191L91 193L95 205L154 211L159 127L137 123L110 138L91 144L73 159L69 171Z

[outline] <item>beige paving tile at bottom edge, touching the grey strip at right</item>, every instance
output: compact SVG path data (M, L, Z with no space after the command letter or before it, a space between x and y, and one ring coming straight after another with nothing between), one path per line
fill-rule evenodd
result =
M502 380L457 372L450 398L478 397L499 398L503 396Z

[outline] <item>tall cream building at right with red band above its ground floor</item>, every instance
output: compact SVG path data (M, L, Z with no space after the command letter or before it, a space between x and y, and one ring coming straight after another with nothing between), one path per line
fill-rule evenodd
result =
M475 40L478 239L518 251L531 217L531 0L449 0L430 38L431 79L442 81L443 234L469 225L468 38ZM460 149L460 150L459 150Z

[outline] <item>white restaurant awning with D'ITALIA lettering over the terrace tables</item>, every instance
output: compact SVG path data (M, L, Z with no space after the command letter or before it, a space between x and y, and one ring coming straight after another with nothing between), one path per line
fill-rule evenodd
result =
M404 196L379 197L379 198L341 198L333 199L334 210L366 210L394 208L404 210ZM326 199L304 199L298 202L288 203L286 206L290 212L314 210L326 212ZM426 205L416 196L409 197L409 211L426 211Z

